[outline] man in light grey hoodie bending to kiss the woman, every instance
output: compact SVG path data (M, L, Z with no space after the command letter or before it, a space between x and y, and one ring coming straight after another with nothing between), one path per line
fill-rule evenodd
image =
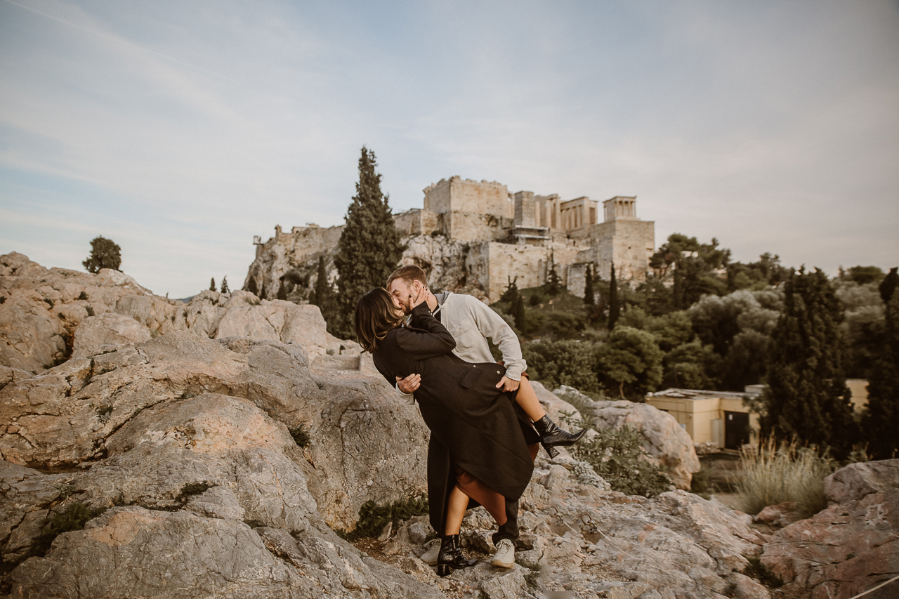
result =
M530 417L550 457L555 457L558 452L556 445L573 445L586 433L586 429L576 434L568 433L547 416L525 373L527 362L521 357L518 337L503 317L486 306L483 301L471 295L451 291L434 295L428 288L424 271L414 264L396 269L387 280L387 291L394 297L396 303L402 306L406 314L419 299L424 298L434 317L446 326L449 334L456 340L456 349L453 353L466 362L494 362L487 338L493 340L503 353L503 365L506 367L505 376L496 384L496 388L503 389ZM405 379L397 378L396 389L406 402L411 404L414 403L414 391L418 389L420 383L421 377L418 374L410 374ZM512 541L518 537L517 502L507 501L506 513L509 516L508 522L496 535L497 549L491 563L502 568L512 568L515 560ZM429 551L423 555L422 559L428 561L425 558L430 553ZM436 552L434 553L436 563Z

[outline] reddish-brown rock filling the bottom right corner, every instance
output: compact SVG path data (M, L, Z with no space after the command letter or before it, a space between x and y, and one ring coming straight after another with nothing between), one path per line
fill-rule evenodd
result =
M899 460L850 464L825 479L830 507L776 532L761 562L784 590L848 599L899 575ZM899 581L886 596L895 596ZM872 595L878 596L878 595Z

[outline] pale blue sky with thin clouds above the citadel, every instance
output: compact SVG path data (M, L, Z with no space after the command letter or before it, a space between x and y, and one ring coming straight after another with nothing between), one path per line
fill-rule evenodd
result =
M460 175L655 243L899 265L899 2L0 0L0 254L239 288L254 235Z

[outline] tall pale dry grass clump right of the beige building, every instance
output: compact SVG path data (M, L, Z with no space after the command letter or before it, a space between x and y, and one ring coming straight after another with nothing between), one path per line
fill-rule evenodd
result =
M758 514L767 505L796 502L797 514L807 518L827 507L824 478L835 464L818 455L814 447L773 440L744 451L743 475L734 481L743 512Z

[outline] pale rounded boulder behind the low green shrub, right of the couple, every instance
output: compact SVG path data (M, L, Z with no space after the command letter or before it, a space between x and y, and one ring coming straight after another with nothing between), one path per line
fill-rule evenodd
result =
M645 439L645 450L657 463L668 468L668 476L675 487L689 490L694 472L699 472L699 458L690 434L681 428L674 416L649 404L632 401L593 401L577 389L556 389L561 398L576 396L581 406L590 407L582 414L599 428L619 429L624 425L635 428Z

